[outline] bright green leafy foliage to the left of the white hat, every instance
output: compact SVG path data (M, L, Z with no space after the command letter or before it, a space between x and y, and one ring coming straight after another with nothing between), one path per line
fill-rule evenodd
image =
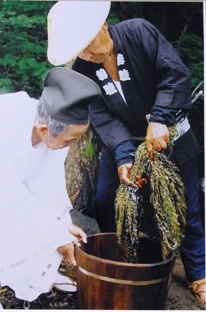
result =
M47 61L47 13L56 1L0 2L0 93L41 94Z

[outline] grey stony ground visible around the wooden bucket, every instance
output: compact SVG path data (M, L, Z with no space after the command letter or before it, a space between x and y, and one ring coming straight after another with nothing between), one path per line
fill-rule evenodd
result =
M80 226L87 235L99 233L98 226L94 219L80 214L75 210L71 211L71 217L73 223ZM65 268L60 267L60 272L64 274ZM23 309L24 302L15 298L13 290L8 287L0 287L0 303L3 309ZM76 292L63 293L57 290L43 294L34 302L31 302L30 309L34 310L57 310L57 309L75 309L78 310L78 299ZM0 307L1 310L1 307ZM168 293L168 301L166 304L166 310L186 310L186 311L199 311L205 310L205 304L199 302L194 297L186 284L184 277L184 267L179 256L175 262L175 268L173 270L172 282L170 284L170 290Z

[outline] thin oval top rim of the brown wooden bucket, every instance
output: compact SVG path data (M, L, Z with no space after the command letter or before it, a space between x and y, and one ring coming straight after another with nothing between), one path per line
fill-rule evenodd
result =
M96 233L96 234L91 234L91 235L88 235L87 236L87 239L89 237L94 237L94 236L101 236L101 235L116 235L116 233ZM149 236L145 236L145 235L139 235L139 237L147 237L149 238L149 240L155 240ZM82 242L82 240L80 240L80 243ZM83 251L82 249L80 249L80 247L78 246L75 246L75 249L78 249L78 251L82 254L85 254L88 256L88 258L91 258L91 259L98 259L99 262L101 263L108 263L108 264L111 264L111 265L122 265L124 267L155 267L155 266L158 266L158 265L164 265L166 263L169 263L171 262L174 258L175 258L175 255L176 255L176 251L172 251L172 254L170 256L170 258L166 259L166 260L163 260L163 261L159 261L159 262L156 262L156 263L124 263L124 262L118 262L118 261L114 261L114 260L107 260L107 259L103 259L103 258L100 258L100 257L97 257L97 256L92 256L90 255L89 253Z

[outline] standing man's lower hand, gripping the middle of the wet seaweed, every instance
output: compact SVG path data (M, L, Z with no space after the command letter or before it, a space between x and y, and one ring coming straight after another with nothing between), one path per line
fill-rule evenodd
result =
M130 178L132 167L133 167L132 162L129 162L128 164L122 164L122 166L119 166L118 168L119 180L120 182L126 184L128 187L133 187L134 185L137 185L141 189L142 185L147 184L147 179L142 178L141 176L137 176L134 184Z

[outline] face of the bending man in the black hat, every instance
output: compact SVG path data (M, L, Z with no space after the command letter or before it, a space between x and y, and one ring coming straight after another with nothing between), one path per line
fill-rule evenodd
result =
M47 143L47 146L52 150L73 146L78 141L78 139L82 137L82 134L87 131L88 127L89 123L87 123L87 125L69 125L68 129L57 135L57 137L53 137L50 130L48 130L47 142L45 143Z

